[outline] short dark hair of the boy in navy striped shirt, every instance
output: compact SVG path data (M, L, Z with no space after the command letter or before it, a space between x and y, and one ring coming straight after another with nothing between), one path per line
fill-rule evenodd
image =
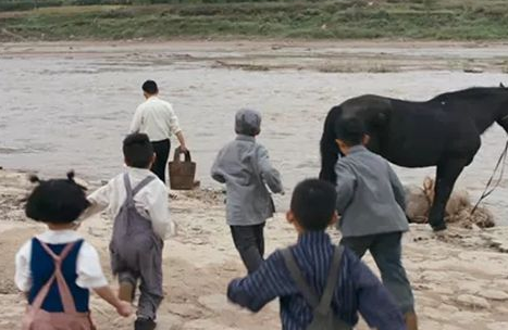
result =
M290 208L298 224L308 231L325 230L336 210L335 187L323 180L307 179L293 191Z

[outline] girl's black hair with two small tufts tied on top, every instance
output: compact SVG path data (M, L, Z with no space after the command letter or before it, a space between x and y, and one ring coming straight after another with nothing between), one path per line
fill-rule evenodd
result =
M83 186L74 181L74 173L67 174L67 179L42 181L36 176L32 182L38 186L28 196L25 214L41 223L70 224L90 206Z

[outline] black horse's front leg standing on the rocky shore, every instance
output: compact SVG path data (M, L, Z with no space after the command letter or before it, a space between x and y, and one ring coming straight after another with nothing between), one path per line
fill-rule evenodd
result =
M434 188L434 203L429 214L429 224L434 231L446 229L445 208L454 190L455 182L469 160L449 158L439 162L436 173L436 185Z

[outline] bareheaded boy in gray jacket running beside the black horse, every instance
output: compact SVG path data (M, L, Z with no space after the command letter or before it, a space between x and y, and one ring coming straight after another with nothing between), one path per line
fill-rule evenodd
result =
M402 232L409 230L405 192L389 163L370 152L363 123L347 118L335 128L345 157L338 160L337 211L340 244L359 257L370 251L383 283L398 302L408 330L416 330L414 299L401 262Z

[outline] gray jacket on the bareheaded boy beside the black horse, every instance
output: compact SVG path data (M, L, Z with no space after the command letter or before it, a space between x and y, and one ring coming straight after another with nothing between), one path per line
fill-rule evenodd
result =
M338 160L335 173L343 237L409 230L404 187L386 160L354 147Z

